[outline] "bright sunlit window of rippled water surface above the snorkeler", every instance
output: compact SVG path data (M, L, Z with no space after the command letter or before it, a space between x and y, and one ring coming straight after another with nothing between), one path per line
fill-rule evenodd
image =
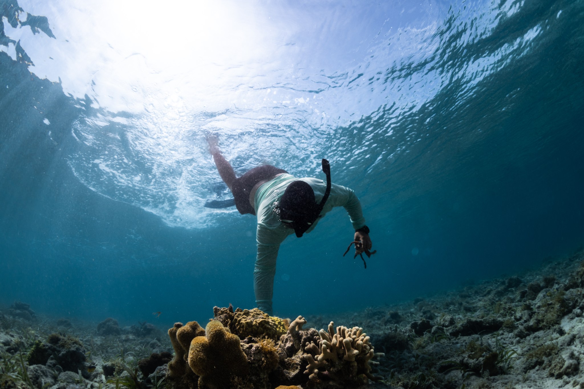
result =
M79 5L60 6L62 17ZM363 168L371 177L391 174L392 162L416 160L447 132L436 125L436 112L427 114L437 96L454 95L440 114L463 109L477 96L477 83L526 55L543 29L533 23L498 36L497 29L515 24L519 3L404 2L366 10L339 3L316 15L261 3L200 8L176 4L173 28L157 31L166 38L152 31L165 20L148 7L81 9L78 19L55 26L69 33L97 27L65 35L65 47L79 51L69 48L71 58L61 58L61 66L85 72L85 83L62 74L65 92L91 99L72 128L75 175L173 226L213 223L201 207L217 181L203 140L208 132L220 134L240 174L268 162L308 176L317 174L321 156L337 163L336 180L347 184ZM102 15L107 27L99 25Z

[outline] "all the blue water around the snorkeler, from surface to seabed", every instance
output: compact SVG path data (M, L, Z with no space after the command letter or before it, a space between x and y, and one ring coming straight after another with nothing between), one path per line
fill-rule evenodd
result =
M0 303L160 324L253 307L255 218L208 154L352 188L282 244L274 313L359 310L584 240L584 2L2 0ZM46 17L46 19L43 18ZM157 322L158 324L158 322Z

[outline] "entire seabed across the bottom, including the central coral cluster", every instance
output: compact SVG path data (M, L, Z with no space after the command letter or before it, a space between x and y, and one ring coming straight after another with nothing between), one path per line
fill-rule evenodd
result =
M0 311L0 389L584 388L583 313L584 250L335 317L215 307L211 324L122 328L16 302Z

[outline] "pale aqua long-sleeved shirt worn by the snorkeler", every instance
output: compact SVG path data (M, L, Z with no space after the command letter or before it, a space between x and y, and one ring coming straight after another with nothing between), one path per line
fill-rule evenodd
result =
M284 191L293 181L301 180L309 184L314 190L317 203L321 202L326 190L326 182L317 178L297 178L291 174L280 174L273 180L260 185L255 194L255 211L258 215L258 228L256 241L258 243L258 257L253 270L253 289L258 308L272 314L272 293L274 275L276 274L276 258L280 243L288 235L294 234L294 230L280 222L280 216L274 209L279 203ZM354 229L360 229L365 225L365 218L361 211L361 204L353 190L340 185L331 185L331 194L326 200L321 215L331 211L335 206L345 207ZM318 218L306 233L312 232L317 226Z

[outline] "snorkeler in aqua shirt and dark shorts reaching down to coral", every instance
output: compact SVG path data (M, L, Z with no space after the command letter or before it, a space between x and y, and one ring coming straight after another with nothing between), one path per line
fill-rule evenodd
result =
M353 190L331 183L331 168L326 159L322 160L326 183L318 178L297 178L271 165L258 166L241 177L235 177L231 164L221 155L217 137L210 135L207 142L219 175L230 188L239 213L251 213L258 217L258 256L253 270L253 290L260 310L272 315L272 292L280 243L290 234L296 233L297 237L301 237L304 233L310 233L318 219L335 206L343 206L349 213L355 230L351 243L355 244L355 257L361 254L363 258L363 253L369 257L375 253L369 251L369 227L365 225L359 199ZM225 206L230 205L233 204L225 202ZM210 207L218 208L216 204Z

